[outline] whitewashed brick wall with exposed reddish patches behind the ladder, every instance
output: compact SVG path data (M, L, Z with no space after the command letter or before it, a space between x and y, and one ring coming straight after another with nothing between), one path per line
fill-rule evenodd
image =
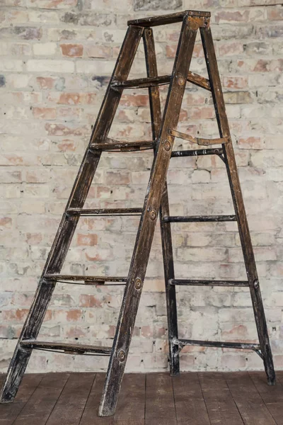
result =
M277 368L283 366L283 8L279 0L2 0L0 11L1 370L5 371L30 307L88 143L127 19L185 8L212 11L212 32L239 167ZM180 25L154 30L158 69L170 73ZM200 38L192 71L206 75ZM138 51L132 77L145 76ZM161 88L164 103L166 87ZM187 84L179 130L217 137L209 93ZM149 140L146 90L127 91L112 137ZM176 140L175 147L181 145ZM183 143L183 147L189 144ZM103 154L88 206L139 207L151 152ZM171 213L233 213L224 164L214 157L173 159ZM138 217L83 217L64 271L127 274ZM245 278L235 223L175 224L179 278ZM127 370L168 367L166 303L159 228ZM110 345L122 287L59 283L41 337ZM255 341L247 290L180 288L180 336ZM29 370L100 370L105 358L37 352ZM187 348L187 370L262 368L255 353Z

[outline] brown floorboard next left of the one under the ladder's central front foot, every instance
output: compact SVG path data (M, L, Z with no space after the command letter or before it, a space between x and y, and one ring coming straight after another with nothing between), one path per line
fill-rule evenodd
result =
M55 405L47 425L79 425L95 374L73 373Z

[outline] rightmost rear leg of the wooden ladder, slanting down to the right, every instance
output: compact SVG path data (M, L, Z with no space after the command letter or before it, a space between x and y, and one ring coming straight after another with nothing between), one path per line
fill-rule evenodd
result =
M270 340L265 319L265 311L263 308L262 297L260 294L260 284L258 281L258 273L255 265L255 256L253 254L253 245L250 239L248 220L246 217L246 211L243 203L243 196L241 192L240 181L238 178L238 171L236 167L235 155L233 152L233 145L231 143L229 123L226 116L224 97L221 89L221 81L214 52L212 32L208 26L207 28L200 28L200 33L202 36L204 55L207 62L207 72L209 74L209 81L212 89L212 96L214 101L214 108L216 111L216 119L219 126L219 133L221 137L229 137L230 140L229 143L222 145L222 147L224 150L224 157L226 159L226 170L229 177L233 205L236 213L236 219L238 222L238 231L240 234L243 258L245 261L246 273L248 276L250 296L253 303L255 323L258 330L258 339L260 341L261 356L265 365L267 381L270 383L270 385L272 385L275 383L275 369L272 361L272 351L270 349Z

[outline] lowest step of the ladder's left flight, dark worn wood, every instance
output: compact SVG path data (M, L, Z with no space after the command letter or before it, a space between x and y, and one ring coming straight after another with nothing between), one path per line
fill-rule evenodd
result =
M112 347L103 346L89 346L80 344L65 344L64 342L49 342L49 341L36 341L35 339L26 339L21 341L21 346L34 348L35 350L47 350L47 351L63 351L68 354L105 354L110 356Z

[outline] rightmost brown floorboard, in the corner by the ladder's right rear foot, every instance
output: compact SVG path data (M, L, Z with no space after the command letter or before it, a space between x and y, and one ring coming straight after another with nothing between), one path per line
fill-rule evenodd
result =
M277 379L276 385L267 385L264 372L250 372L249 375L277 425L283 425L283 386L281 382Z

